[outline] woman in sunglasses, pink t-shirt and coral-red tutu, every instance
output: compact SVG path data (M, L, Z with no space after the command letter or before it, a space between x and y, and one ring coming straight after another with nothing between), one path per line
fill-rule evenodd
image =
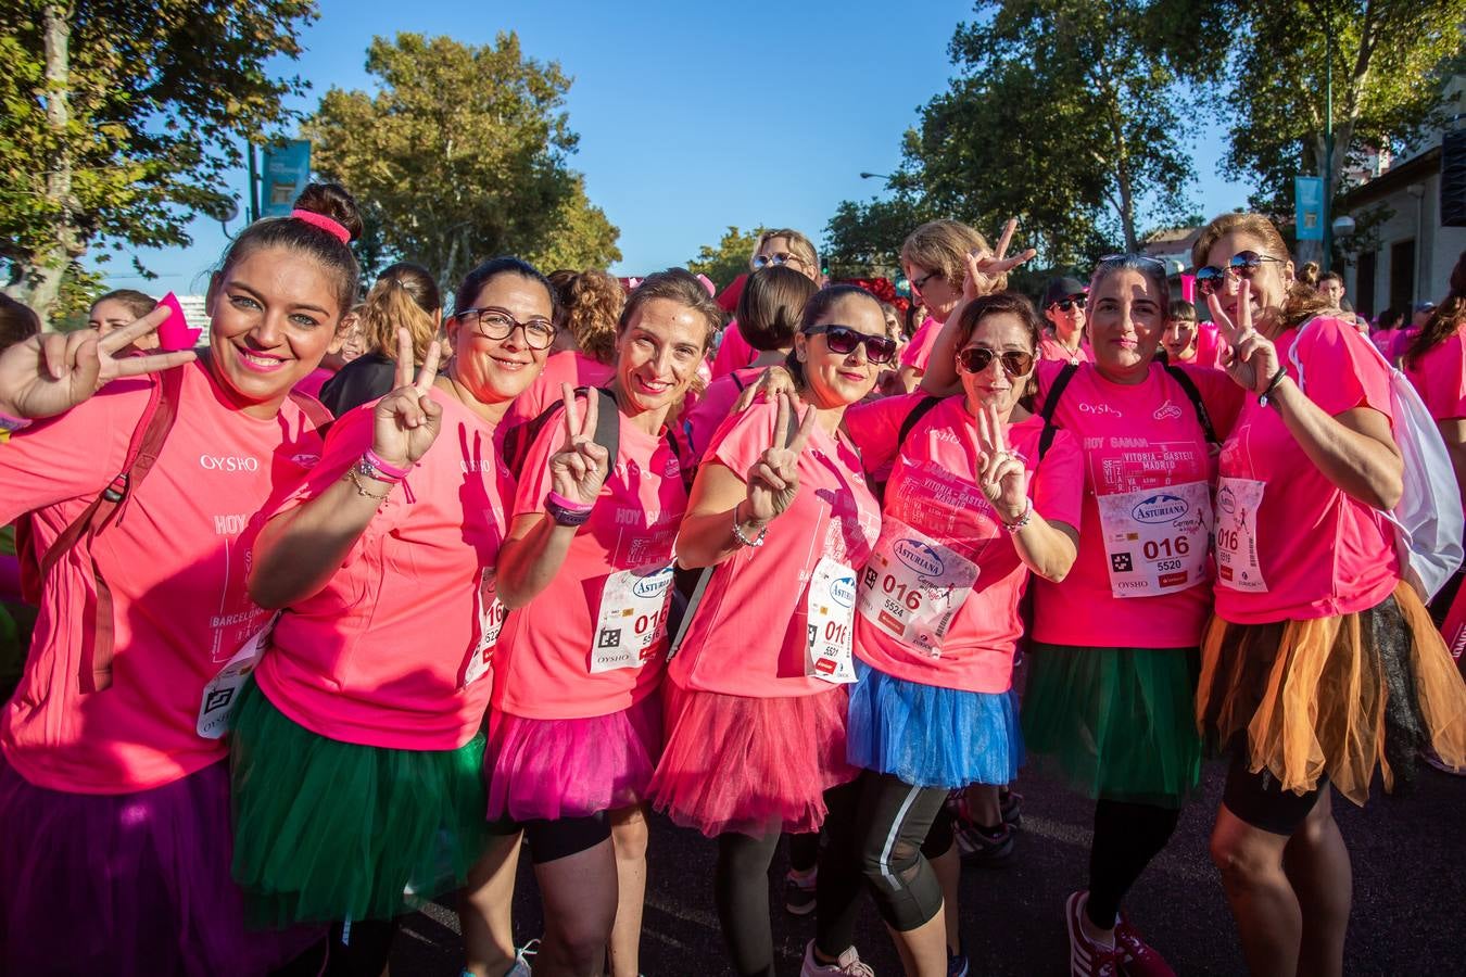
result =
M855 678L855 571L880 511L843 419L894 353L871 293L817 291L786 360L808 404L798 432L787 395L724 420L677 538L682 565L714 570L668 669L652 795L674 822L718 839L714 896L740 974L773 967L767 874L780 832L817 831L858 772L844 759L841 684ZM859 889L858 866L830 872ZM821 891L824 880L821 866ZM830 929L834 915L819 920L819 962L853 955L852 935Z

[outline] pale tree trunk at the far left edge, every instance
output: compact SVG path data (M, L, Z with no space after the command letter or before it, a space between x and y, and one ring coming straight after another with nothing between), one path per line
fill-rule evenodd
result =
M21 280L10 289L12 294L35 309L44 328L53 328L51 316L66 268L86 253L76 227L72 144L66 132L70 123L69 13L60 3L47 3L41 13L45 41L45 123L56 144L56 155L45 176L45 205L56 214L54 236L45 250L22 262Z

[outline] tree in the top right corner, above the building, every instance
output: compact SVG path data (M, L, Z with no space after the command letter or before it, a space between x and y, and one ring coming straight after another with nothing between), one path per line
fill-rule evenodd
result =
M1227 95L1226 171L1252 207L1290 217L1293 176L1325 176L1325 88L1333 67L1334 195L1368 149L1412 142L1460 111L1443 89L1462 67L1466 0L1283 0L1229 4L1237 38ZM1330 40L1331 38L1331 40ZM1328 51L1333 51L1333 59ZM1318 258L1319 249L1303 258Z

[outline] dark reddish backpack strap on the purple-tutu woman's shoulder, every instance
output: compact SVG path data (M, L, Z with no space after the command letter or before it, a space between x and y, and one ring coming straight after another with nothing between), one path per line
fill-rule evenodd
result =
M128 501L152 470L163 451L163 444L167 441L169 431L173 429L173 422L177 419L183 393L183 369L176 366L154 379L148 403L142 416L138 417L132 439L128 442L122 470L47 548L40 561L41 580L51 573L62 557L81 542L84 535L95 539L113 521L123 519ZM111 589L107 586L107 579L103 576L101 567L97 565L95 557L91 562L92 577L97 582L97 602L91 628L88 628L91 636L84 642L82 662L78 669L81 690L85 693L101 691L111 686L111 659L116 652Z

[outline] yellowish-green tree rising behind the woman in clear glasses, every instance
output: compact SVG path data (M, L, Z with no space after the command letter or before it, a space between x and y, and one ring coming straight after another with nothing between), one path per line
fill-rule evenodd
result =
M576 135L557 63L525 57L513 34L482 47L399 34L371 42L366 70L375 94L333 88L302 132L315 168L380 217L380 255L444 286L494 255L572 268L620 259L617 229L567 167Z

